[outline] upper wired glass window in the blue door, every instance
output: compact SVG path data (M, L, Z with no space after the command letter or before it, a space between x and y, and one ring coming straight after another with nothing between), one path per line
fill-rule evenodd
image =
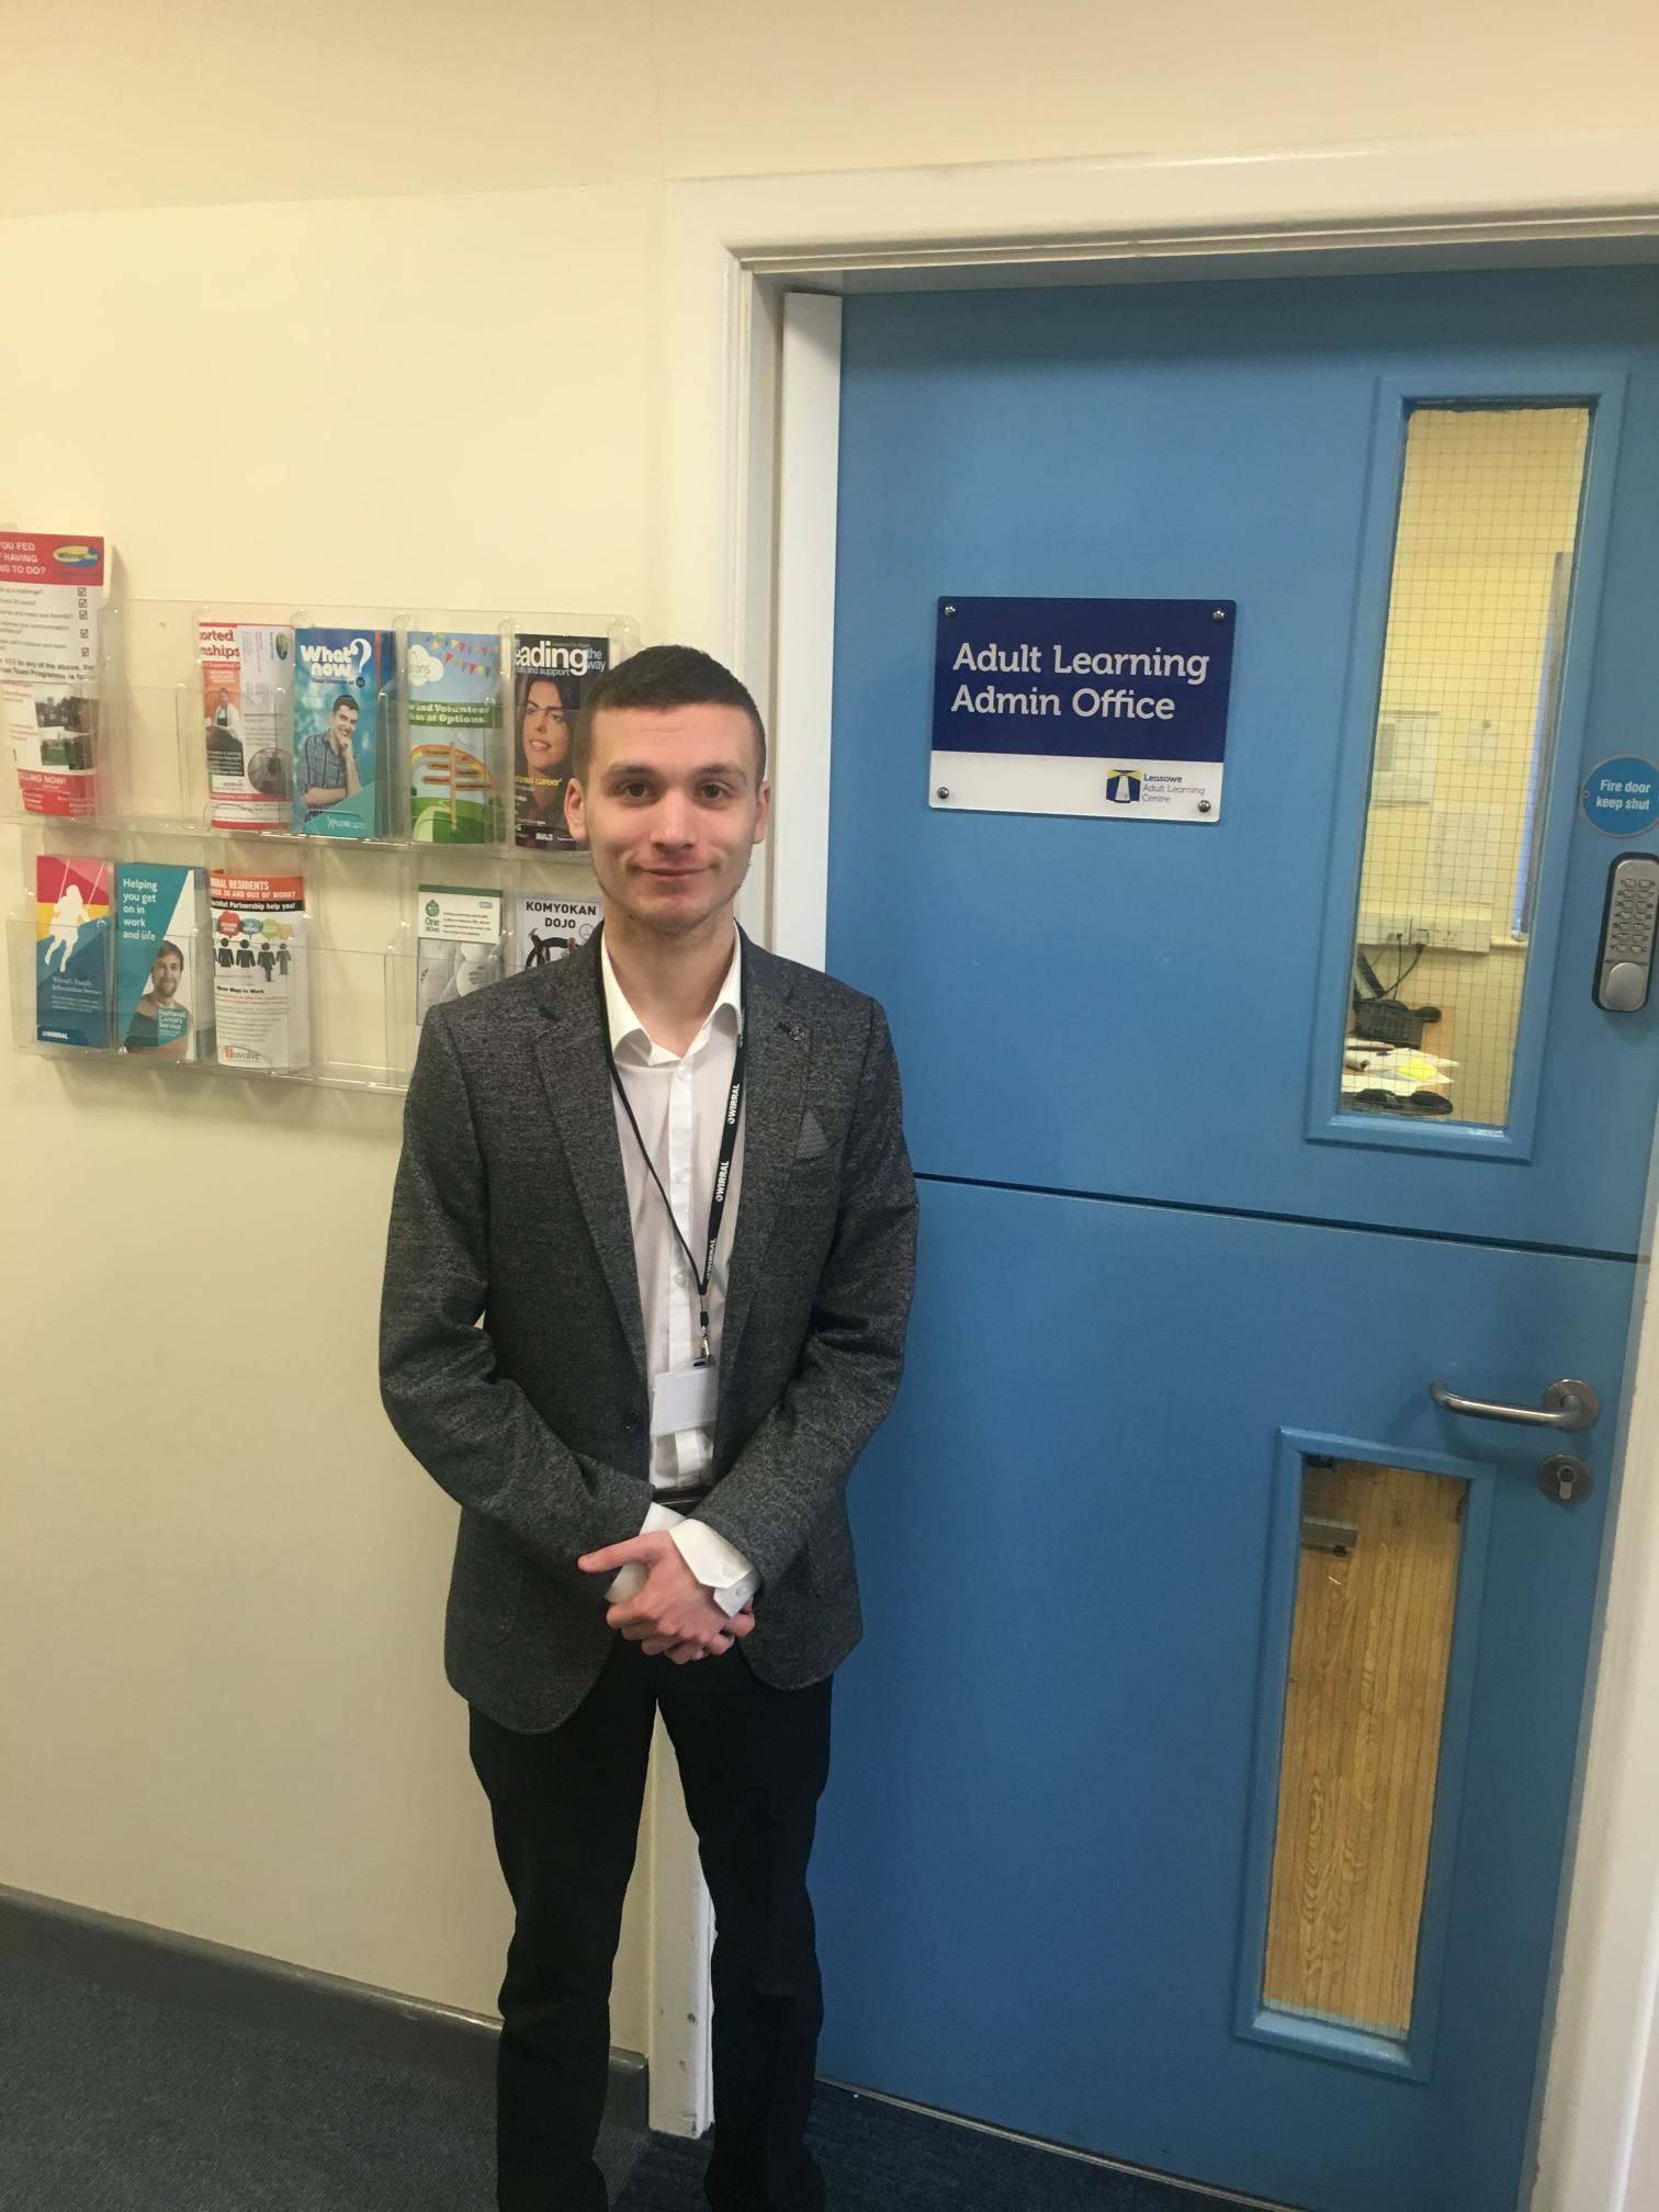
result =
M1411 411L1340 1104L1502 1126L1590 409Z

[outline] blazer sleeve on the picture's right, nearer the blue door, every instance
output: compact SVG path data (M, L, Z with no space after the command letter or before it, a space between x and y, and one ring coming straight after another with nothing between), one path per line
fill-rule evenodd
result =
M916 1179L898 1060L872 1002L843 1155L841 1212L787 1389L692 1515L774 1582L845 1489L905 1369L916 1287Z

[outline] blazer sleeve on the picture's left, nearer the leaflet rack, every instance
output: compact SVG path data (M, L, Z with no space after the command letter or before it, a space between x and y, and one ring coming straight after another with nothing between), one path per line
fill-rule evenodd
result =
M489 1270L489 1175L456 1042L420 1024L380 1292L380 1400L458 1504L573 1575L584 1551L637 1535L650 1486L560 1442L478 1327Z

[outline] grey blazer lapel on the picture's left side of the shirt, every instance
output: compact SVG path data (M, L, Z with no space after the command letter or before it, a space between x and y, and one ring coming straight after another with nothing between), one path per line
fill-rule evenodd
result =
M646 1325L639 1314L639 1270L633 1256L628 1186L622 1177L611 1062L599 1009L599 938L560 960L546 975L544 1026L535 1057L553 1108L582 1214L622 1318L639 1380L646 1378ZM748 1177L748 1164L745 1164Z

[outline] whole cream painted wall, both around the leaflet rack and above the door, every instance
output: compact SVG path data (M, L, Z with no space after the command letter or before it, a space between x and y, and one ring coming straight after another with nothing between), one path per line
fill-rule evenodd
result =
M1546 0L279 20L0 13L0 520L102 526L139 597L648 635L664 179L1619 131L1659 62L1648 0L1571 35ZM0 1055L0 1880L484 2008L453 1511L372 1376L394 1152L387 1102ZM248 1292L283 1345L232 1369ZM613 2033L648 2031L635 1913Z

